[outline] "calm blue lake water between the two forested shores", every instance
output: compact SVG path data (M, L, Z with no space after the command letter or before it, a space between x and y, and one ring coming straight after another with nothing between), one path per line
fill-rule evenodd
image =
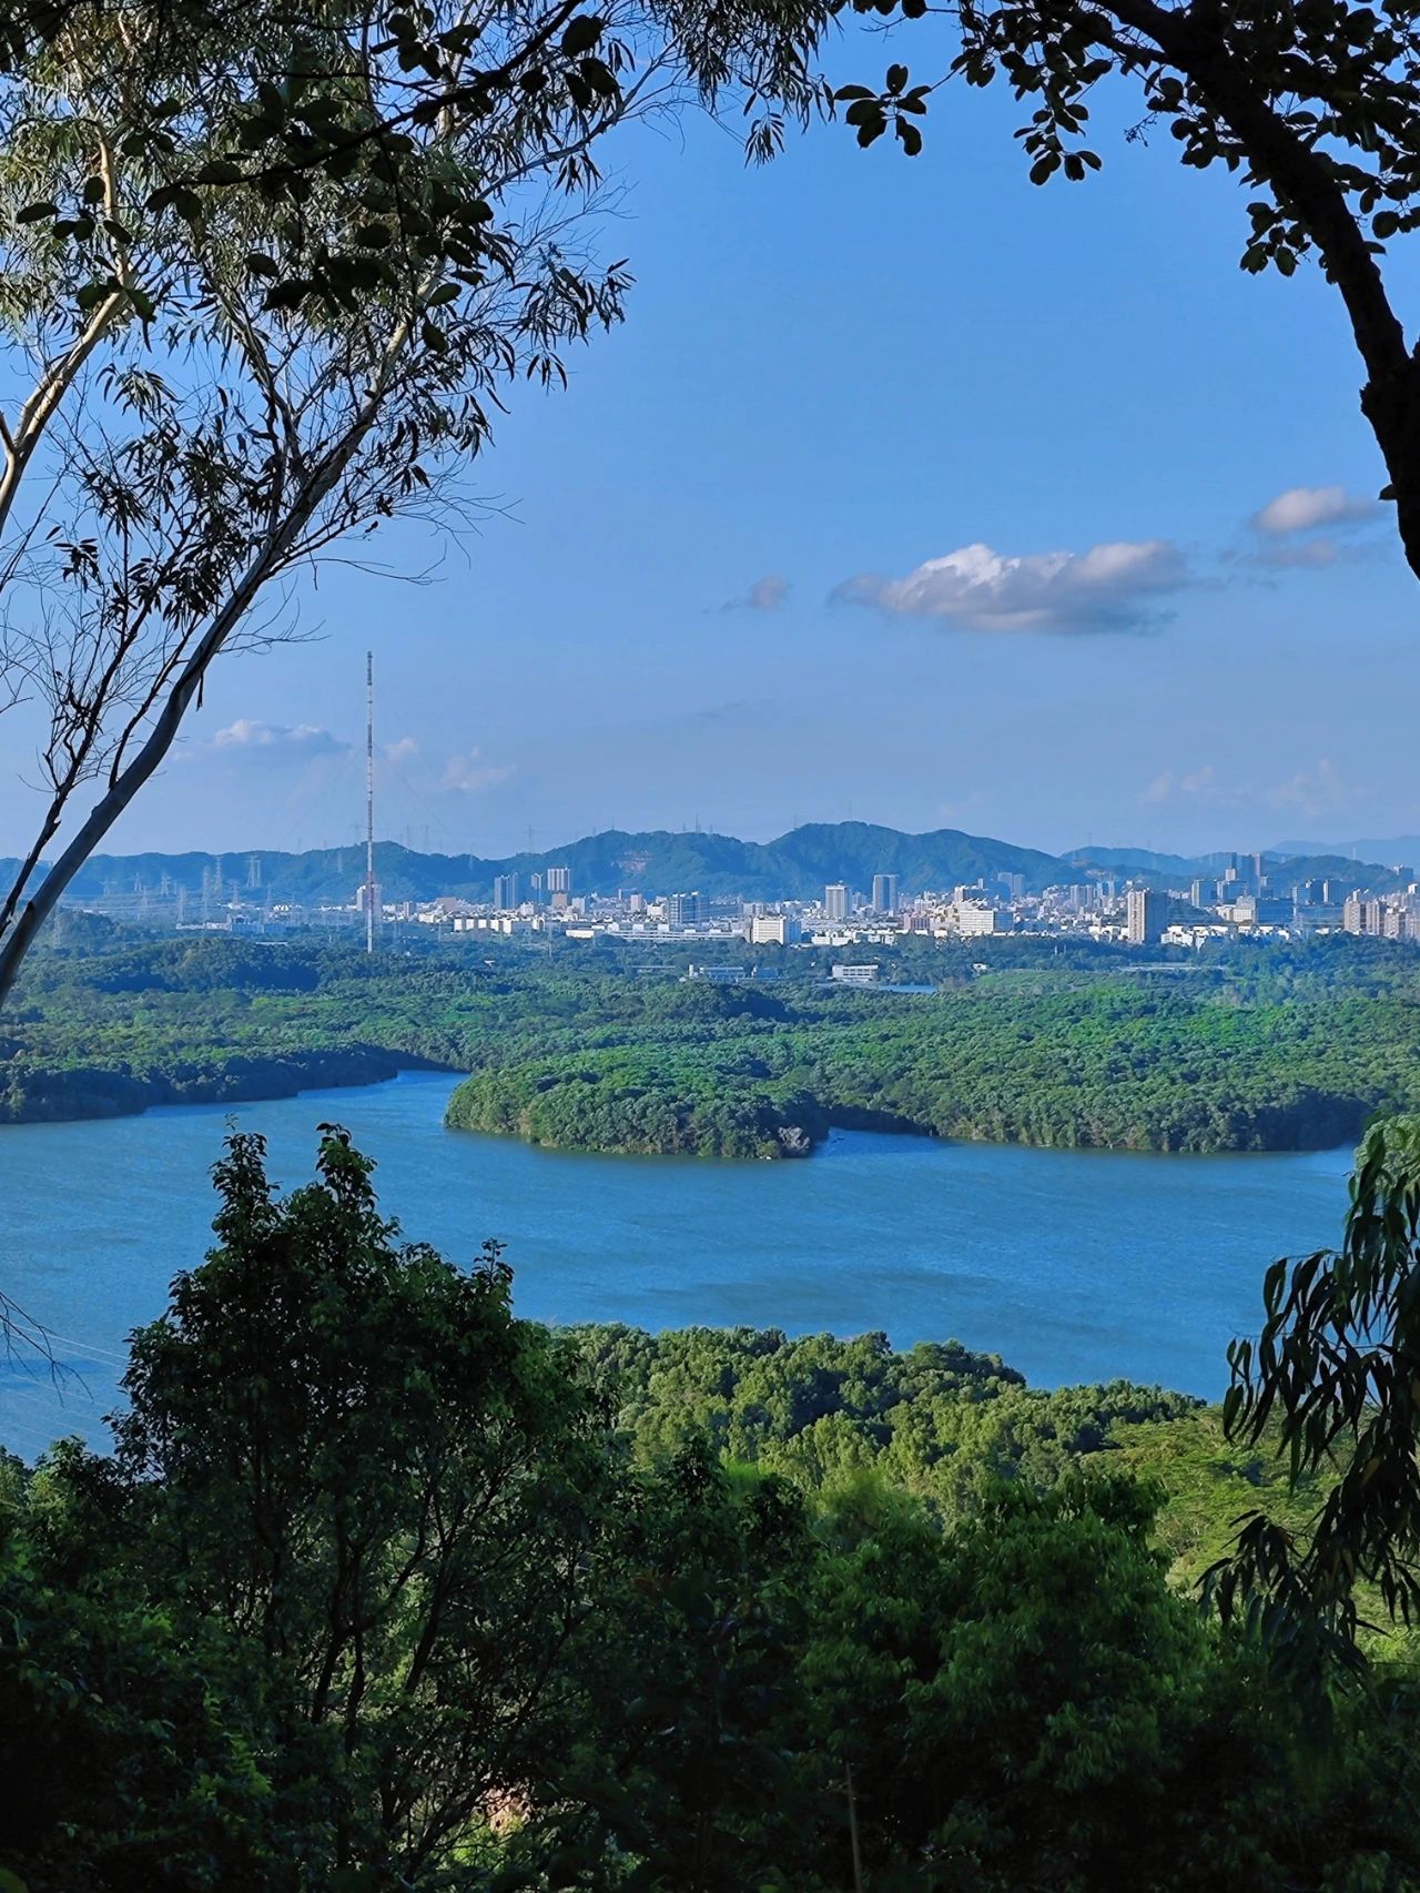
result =
M411 1073L273 1104L0 1130L0 1285L87 1382L0 1365L0 1441L100 1437L125 1333L206 1247L225 1123L282 1183L316 1124L379 1157L388 1212L470 1259L507 1242L543 1321L754 1323L956 1336L1032 1382L1128 1376L1217 1395L1263 1268L1339 1236L1350 1151L1119 1157L835 1134L808 1162L568 1157L443 1130L453 1081Z

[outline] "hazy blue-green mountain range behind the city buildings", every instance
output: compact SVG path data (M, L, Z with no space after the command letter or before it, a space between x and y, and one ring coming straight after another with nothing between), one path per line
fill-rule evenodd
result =
M1287 880L1310 880L1333 875L1382 892L1395 884L1386 863L1420 858L1420 844L1401 850L1399 844L1376 846L1371 861L1352 859L1337 850L1299 848L1284 854L1269 852L1269 865ZM977 878L1022 875L1026 888L1036 892L1053 882L1085 880L1094 875L1119 875L1178 884L1195 875L1217 875L1227 856L1153 854L1147 848L1077 848L1070 854L1043 854L1039 848L1019 848L1013 842L985 835L964 835L960 829L933 829L928 835L903 835L899 829L875 827L871 822L814 822L791 829L778 840L737 840L733 835L672 833L653 829L627 835L610 829L587 835L566 848L545 854L513 854L483 859L473 854L418 854L398 842L375 846L375 873L392 901L430 901L439 893L487 901L496 875L517 875L521 892L530 892L532 875L549 867L566 867L574 893L615 893L617 888L644 893L701 892L706 895L742 893L746 899L808 899L822 895L824 886L846 880L867 892L873 875L897 875L901 890L952 888ZM76 876L68 899L87 903L114 893L134 893L140 888L159 893L186 888L199 895L204 878L222 871L225 890L252 890L267 899L350 901L365 873L364 848L312 848L305 854L284 854L271 848L252 848L225 856L214 854L129 854L95 856ZM0 873L13 873L17 863L0 861Z

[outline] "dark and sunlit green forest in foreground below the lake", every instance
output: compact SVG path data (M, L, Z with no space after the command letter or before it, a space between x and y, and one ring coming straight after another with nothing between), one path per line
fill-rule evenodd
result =
M1367 1562L1348 1660L1198 1605L1240 1513L1303 1543L1340 1490L1276 1424L954 1344L547 1331L371 1170L328 1130L278 1198L233 1138L114 1452L0 1458L11 1893L1420 1880Z

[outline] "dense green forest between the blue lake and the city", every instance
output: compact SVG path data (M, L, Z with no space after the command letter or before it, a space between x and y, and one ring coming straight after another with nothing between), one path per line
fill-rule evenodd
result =
M420 929L422 931L422 929ZM424 945L424 943L417 943ZM875 950L877 952L877 950ZM833 986L771 952L738 986L589 946L176 937L38 954L8 1013L0 1121L278 1096L399 1066L468 1073L449 1123L540 1143L782 1157L833 1124L1106 1149L1337 1145L1420 1106L1420 962L1378 941L1238 946L1159 969L1089 946L877 952Z

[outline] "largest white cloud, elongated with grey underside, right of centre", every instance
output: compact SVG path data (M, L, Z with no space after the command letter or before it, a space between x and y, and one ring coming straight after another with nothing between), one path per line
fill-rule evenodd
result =
M901 579L863 572L833 593L901 617L966 630L1127 632L1159 619L1157 600L1189 583L1170 540L1115 540L1085 553L1009 557L964 545Z

